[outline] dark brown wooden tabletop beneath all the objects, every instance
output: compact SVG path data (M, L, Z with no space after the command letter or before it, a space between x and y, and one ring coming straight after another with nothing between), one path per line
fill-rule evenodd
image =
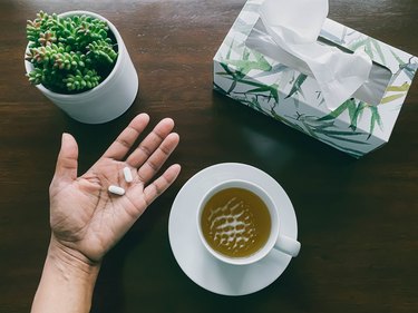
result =
M183 172L107 255L93 312L417 312L418 88L391 139L356 160L212 90L212 58L244 0L0 1L0 312L28 312L49 241L48 186L62 131L86 170L136 114L172 117ZM82 9L117 26L139 74L132 108L105 125L66 117L25 77L26 20ZM330 0L329 17L418 55L416 0ZM293 202L302 251L247 296L213 294L177 265L167 223L198 170L239 162L273 176Z

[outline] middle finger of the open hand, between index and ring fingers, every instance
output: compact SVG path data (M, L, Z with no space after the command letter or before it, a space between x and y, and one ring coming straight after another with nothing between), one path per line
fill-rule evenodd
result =
M140 167L147 159L149 159L154 151L158 149L173 128L173 119L165 118L161 120L155 126L153 131L149 133L148 136L139 144L139 146L129 155L126 163L132 167ZM165 149L168 149L168 147L165 146Z

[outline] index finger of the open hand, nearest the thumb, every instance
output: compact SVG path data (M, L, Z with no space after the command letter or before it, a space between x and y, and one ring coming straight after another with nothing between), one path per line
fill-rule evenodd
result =
M148 125L149 116L147 114L137 115L129 125L120 133L116 140L103 155L107 158L121 160L135 144L138 136Z

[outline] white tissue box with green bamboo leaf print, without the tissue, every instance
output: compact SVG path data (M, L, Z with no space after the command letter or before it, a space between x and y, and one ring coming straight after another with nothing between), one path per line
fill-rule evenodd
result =
M357 158L386 144L418 59L327 19L320 42L347 52L363 47L373 61L369 81L352 98L330 109L314 78L254 43L261 2L245 3L217 50L214 89ZM265 45L274 45L268 41Z

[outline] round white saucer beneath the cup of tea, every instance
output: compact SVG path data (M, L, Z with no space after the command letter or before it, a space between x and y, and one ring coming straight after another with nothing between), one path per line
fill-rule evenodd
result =
M193 282L217 294L244 295L273 283L284 272L291 256L273 250L254 264L229 265L205 250L197 235L197 205L213 185L231 178L246 179L264 188L283 209L281 232L297 239L297 216L283 188L264 172L237 163L207 167L187 180L173 203L168 237L174 257Z

